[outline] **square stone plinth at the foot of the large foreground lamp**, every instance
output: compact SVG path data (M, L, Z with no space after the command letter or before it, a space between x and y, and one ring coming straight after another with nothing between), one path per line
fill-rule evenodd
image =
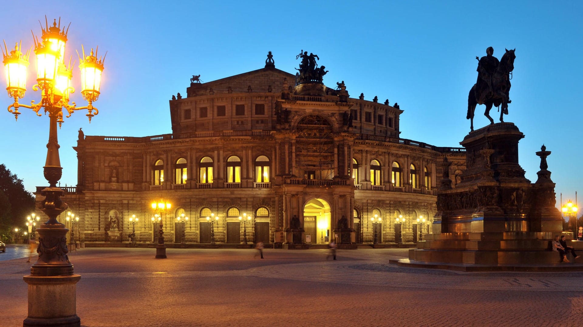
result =
M23 327L80 327L81 319L76 314L79 279L80 275L24 276L24 282L29 285L29 315Z

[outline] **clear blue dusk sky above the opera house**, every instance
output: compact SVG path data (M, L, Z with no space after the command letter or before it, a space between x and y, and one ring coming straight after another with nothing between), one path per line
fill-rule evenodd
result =
M160 4L164 3L163 6ZM583 108L581 51L583 5L548 1L9 1L0 12L0 38L8 47L40 38L38 20L72 22L65 55L81 44L107 53L99 115L89 124L86 111L65 118L59 130L61 186L77 183L73 146L77 131L86 135L152 136L171 133L168 100L186 94L189 79L208 82L264 67L268 51L275 66L295 73L301 49L320 58L329 73L324 83L344 80L350 97L364 93L380 102L398 102L401 137L437 146L460 147L469 132L468 91L476 83L476 56L494 48L516 48L506 122L525 134L519 161L535 182L544 143L551 178L563 202L580 188ZM27 91L20 102L40 99L32 86L36 67L31 55ZM2 66L3 71L3 66ZM79 70L73 86L80 90ZM2 76L2 88L6 81ZM29 191L48 185L43 165L48 116L22 108L18 122L6 111L13 99L0 98L0 163L24 180ZM79 91L72 95L86 105ZM474 125L483 127L485 106L476 108ZM491 116L498 122L499 113Z

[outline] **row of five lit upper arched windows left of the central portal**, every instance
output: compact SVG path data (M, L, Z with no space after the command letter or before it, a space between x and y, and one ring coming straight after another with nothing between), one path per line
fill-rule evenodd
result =
M214 178L214 162L210 157L203 157L198 165L198 182L212 183ZM161 185L164 183L164 161L156 160L152 168L153 184ZM255 159L255 177L257 183L269 182L269 158L260 155ZM241 182L241 158L231 155L227 158L227 167L225 172L227 183ZM184 158L178 158L174 163L174 184L186 184L188 179L187 161Z

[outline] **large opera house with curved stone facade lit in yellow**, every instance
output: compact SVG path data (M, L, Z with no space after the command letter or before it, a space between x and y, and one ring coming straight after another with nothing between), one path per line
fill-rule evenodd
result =
M166 243L293 243L294 229L311 244L415 242L436 212L443 157L454 185L465 169L463 149L399 138L396 104L350 98L343 83L306 95L270 63L193 77L170 101L173 133L80 137L78 186L64 198L76 238L128 241L135 215L136 240L152 242L150 202L164 198Z

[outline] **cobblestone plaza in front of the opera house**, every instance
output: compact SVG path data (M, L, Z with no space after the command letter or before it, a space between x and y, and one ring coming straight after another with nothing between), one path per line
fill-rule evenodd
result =
M82 326L575 326L583 272L464 273L389 265L406 249L86 248ZM0 254L3 255L3 254ZM0 261L2 326L26 317L26 258Z

